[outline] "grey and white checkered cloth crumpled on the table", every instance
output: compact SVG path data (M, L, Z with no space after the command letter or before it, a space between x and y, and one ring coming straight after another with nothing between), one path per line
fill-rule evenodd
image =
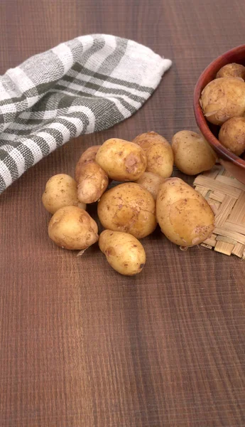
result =
M134 41L77 37L0 76L0 193L81 134L136 112L171 61Z

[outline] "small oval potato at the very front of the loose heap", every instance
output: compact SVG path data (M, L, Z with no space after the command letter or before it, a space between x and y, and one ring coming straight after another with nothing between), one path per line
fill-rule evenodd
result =
M123 275L141 273L146 253L141 243L129 233L104 230L99 236L99 248L109 265Z

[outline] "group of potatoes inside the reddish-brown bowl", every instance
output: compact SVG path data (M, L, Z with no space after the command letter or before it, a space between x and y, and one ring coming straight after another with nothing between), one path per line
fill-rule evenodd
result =
M245 155L245 67L224 65L202 91L207 120L219 125L219 142L237 156Z

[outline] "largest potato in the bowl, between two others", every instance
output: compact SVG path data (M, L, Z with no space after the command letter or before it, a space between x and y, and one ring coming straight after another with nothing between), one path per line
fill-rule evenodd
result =
M214 125L222 125L232 117L244 115L244 80L235 77L212 80L202 90L200 105L206 119Z

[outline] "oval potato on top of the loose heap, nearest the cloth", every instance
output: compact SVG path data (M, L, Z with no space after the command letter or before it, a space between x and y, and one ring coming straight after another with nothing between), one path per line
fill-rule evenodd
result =
M146 170L146 154L141 147L124 139L111 138L102 144L96 162L109 178L136 181Z

